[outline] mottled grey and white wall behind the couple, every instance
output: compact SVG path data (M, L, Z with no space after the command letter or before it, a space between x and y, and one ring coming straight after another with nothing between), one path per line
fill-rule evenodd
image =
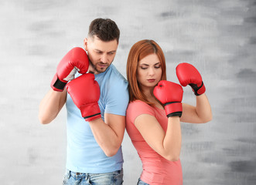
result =
M66 160L66 110L43 126L38 106L56 65L83 46L90 22L112 18L121 29L114 65L126 76L128 51L154 39L166 55L168 79L191 62L207 87L213 120L182 124L184 184L256 183L256 1L67 1L0 2L0 182L61 184ZM195 105L189 87L183 102ZM125 185L142 171L125 133Z

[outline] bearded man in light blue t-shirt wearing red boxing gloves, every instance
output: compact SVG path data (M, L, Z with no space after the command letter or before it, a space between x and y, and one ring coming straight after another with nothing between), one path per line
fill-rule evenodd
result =
M40 103L43 124L55 119L66 103L67 173L63 184L123 182L121 142L128 82L112 64L119 35L118 26L109 18L91 22L84 39L87 53L74 48L63 57L52 89Z

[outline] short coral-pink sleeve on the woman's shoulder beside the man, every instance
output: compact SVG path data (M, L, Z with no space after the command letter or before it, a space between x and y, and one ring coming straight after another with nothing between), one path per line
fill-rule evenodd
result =
M139 100L129 103L129 106L127 109L127 119L131 123L135 123L136 117L142 114L149 114L151 116L155 116L155 112L152 106L149 106L147 103L144 103Z

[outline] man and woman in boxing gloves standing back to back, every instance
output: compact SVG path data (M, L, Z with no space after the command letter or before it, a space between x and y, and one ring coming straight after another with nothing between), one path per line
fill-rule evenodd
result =
M143 164L138 184L182 184L180 122L206 123L212 116L200 73L188 63L177 66L179 82L196 95L196 106L182 103L183 88L166 81L162 49L142 40L129 52L127 82L111 64L119 35L111 19L94 19L85 51L67 52L40 103L43 124L55 119L66 103L63 184L122 184L125 126Z

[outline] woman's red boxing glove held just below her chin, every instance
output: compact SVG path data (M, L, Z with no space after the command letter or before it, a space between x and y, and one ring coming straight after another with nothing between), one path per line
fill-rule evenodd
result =
M166 116L181 116L183 113L183 87L177 83L162 80L154 89L154 95L165 105Z

